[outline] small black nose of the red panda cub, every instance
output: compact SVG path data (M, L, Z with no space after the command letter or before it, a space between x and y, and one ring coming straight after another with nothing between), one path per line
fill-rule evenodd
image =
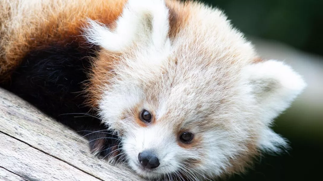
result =
M157 168L160 165L157 156L150 151L139 153L138 160L143 167L148 169Z

